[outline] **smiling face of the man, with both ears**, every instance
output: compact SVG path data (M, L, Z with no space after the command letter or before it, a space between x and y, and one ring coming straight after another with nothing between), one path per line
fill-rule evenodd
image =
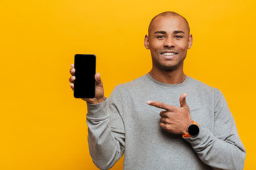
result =
M151 23L144 45L151 52L153 67L174 70L183 67L192 45L188 25L181 16L158 16Z

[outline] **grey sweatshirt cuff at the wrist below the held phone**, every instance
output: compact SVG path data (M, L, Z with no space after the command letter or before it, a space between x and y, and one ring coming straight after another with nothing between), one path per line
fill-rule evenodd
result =
M87 118L97 119L97 118L105 118L106 116L108 116L105 110L106 105L107 105L107 97L105 97L105 101L102 101L102 103L97 103L97 104L87 103Z

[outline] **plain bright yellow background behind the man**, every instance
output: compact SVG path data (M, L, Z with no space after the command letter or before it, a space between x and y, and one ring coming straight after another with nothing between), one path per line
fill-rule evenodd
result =
M70 64L76 53L97 55L110 96L151 69L144 35L163 11L190 23L185 72L223 92L247 151L245 169L256 169L255 8L255 0L1 0L0 169L97 169Z

